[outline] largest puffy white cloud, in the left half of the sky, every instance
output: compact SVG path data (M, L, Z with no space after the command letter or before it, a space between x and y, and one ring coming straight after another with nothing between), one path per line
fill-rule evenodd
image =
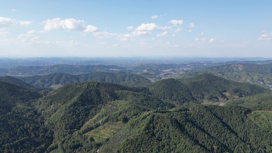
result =
M96 32L98 28L93 25L85 25L84 20L76 20L73 18L68 18L61 20L60 18L47 19L44 21L44 30L52 31L52 30L75 30L75 31L84 31L88 32Z

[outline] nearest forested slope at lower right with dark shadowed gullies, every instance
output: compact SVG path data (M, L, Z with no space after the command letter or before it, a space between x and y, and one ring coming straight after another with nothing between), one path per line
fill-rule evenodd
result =
M271 152L271 132L246 117L248 111L237 106L189 105L143 113L99 151Z

